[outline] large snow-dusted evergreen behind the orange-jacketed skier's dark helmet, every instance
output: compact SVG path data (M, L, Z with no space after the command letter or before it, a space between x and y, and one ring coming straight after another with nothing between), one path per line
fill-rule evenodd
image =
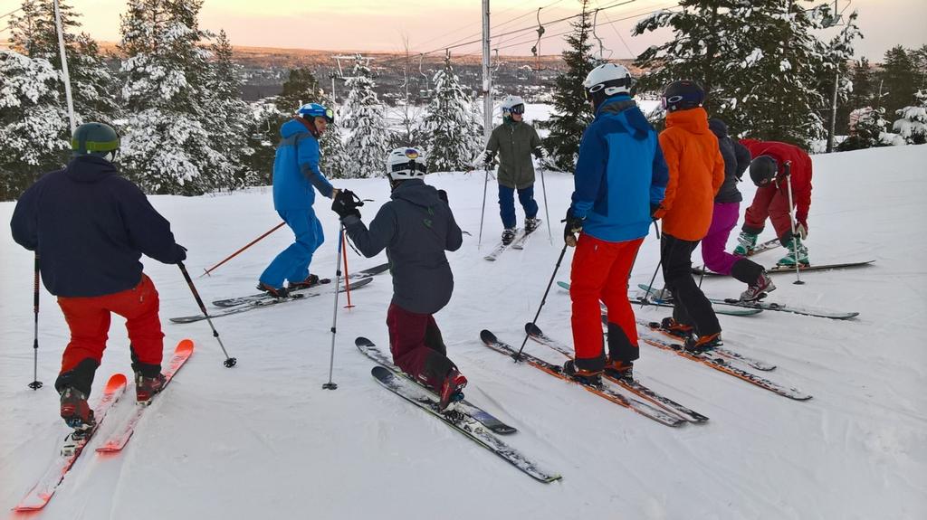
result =
M674 37L638 56L652 68L643 88L670 80L707 85L712 116L760 139L807 146L824 136L825 106L819 76L829 68L827 46L812 31L824 27L830 8L806 10L800 2L683 0L679 12L641 20L635 33L670 28Z

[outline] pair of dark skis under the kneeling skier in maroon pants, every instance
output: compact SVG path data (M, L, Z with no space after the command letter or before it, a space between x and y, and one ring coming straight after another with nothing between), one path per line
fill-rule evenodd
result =
M371 375L387 390L399 395L408 402L412 402L430 415L464 434L470 440L495 453L504 461L514 465L521 472L540 482L551 483L559 480L561 476L548 471L526 455L518 452L500 440L494 434L509 435L517 430L503 423L489 412L477 407L471 402L459 401L451 404L446 410L438 407L438 396L427 389L419 381L405 375L399 367L387 358L387 355L376 348L373 341L358 338L354 341L364 355L374 360L378 365L371 370Z

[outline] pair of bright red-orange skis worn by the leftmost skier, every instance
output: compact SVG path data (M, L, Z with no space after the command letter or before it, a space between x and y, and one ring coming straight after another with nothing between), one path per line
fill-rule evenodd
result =
M165 387L171 382L174 374L176 374L186 360L189 359L190 355L193 354L193 348L192 340L181 340L180 343L177 344L171 361L168 364L168 369L164 372ZM58 449L58 455L55 460L48 466L44 474L42 474L42 477L39 477L32 488L26 492L22 500L13 508L13 511L22 513L39 511L44 508L45 504L51 500L55 491L68 475L71 467L77 462L77 458L84 452L87 444L93 440L95 433L99 430L100 425L103 424L109 411L119 402L122 394L125 393L126 386L127 380L122 374L113 374L113 376L109 378L100 396L100 400L94 408L94 417L96 420L94 427L83 433L80 437L75 436L73 432L65 436L65 439ZM161 390L163 391L163 388ZM157 396L152 399L157 399ZM129 415L124 422L114 430L109 438L96 448L96 452L120 452L122 448L125 447L126 443L129 442L129 439L132 438L135 427L147 408L148 406L146 405L136 404L133 414Z

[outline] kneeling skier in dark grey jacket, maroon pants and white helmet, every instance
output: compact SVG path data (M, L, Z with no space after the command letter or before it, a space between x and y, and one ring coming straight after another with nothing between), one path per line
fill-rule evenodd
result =
M390 201L367 229L347 190L332 203L361 253L370 258L387 250L393 299L387 310L389 349L404 372L434 389L444 409L464 398L466 378L447 357L434 315L451 300L454 279L445 251L457 251L463 234L454 221L447 194L425 184L425 156L415 148L397 148L387 157Z

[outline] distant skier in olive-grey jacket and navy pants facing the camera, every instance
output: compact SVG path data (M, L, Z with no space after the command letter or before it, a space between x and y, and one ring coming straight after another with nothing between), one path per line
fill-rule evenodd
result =
M499 154L499 215L502 243L515 238L514 194L525 209L525 232L538 228L538 203L534 200L534 164L531 154L543 158L544 149L534 127L522 120L525 102L517 95L502 100L502 124L492 130L482 158L487 167Z

